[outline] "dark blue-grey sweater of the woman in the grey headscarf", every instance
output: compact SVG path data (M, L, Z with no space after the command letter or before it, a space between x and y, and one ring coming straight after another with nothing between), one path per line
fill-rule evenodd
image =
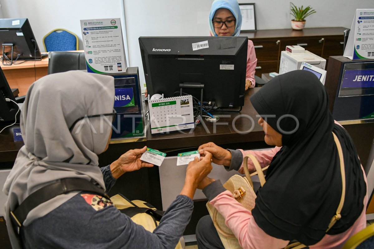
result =
M109 191L116 179L109 165L101 171ZM193 210L193 201L178 195L150 233L114 205L96 211L81 194L21 228L24 248L175 248Z

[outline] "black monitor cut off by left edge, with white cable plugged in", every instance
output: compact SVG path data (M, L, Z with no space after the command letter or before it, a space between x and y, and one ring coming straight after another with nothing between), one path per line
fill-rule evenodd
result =
M3 70L0 68L0 126L14 122L18 111L18 105L12 101L7 102L6 98L16 101Z

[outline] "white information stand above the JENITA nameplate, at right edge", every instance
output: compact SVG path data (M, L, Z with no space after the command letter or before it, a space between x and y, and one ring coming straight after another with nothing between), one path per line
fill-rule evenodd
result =
M374 9L356 9L344 57L374 59Z

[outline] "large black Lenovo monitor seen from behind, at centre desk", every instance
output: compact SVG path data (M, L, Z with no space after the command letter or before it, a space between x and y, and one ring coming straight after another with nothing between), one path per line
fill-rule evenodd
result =
M204 84L203 101L244 105L247 37L139 37L150 95L178 96L180 83ZM183 89L200 99L200 89Z

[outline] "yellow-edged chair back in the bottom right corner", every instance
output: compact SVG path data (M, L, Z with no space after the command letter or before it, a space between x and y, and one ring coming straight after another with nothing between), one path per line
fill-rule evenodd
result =
M374 248L374 224L367 226L344 244L342 249L370 249Z

